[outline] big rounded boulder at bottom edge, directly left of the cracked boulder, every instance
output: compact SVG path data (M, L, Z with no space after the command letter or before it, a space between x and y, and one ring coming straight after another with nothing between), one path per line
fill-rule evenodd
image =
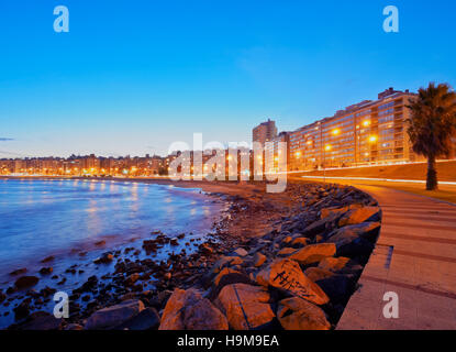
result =
M162 316L159 330L227 330L225 316L201 294L176 288Z

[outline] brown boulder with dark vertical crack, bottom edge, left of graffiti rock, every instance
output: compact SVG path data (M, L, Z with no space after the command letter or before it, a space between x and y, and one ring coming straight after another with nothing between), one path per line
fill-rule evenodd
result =
M270 296L264 287L233 284L223 287L219 300L226 312L230 326L235 330L260 329L276 317Z

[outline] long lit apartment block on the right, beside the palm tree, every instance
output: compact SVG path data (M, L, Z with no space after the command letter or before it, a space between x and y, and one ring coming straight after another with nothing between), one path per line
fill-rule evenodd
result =
M407 105L415 95L389 88L333 117L290 133L289 169L421 161L407 134Z

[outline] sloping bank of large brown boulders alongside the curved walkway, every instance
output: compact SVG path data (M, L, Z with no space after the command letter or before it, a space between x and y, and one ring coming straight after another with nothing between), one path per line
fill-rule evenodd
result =
M219 258L200 285L176 289L159 329L334 328L375 246L381 211L368 195L304 185L277 229Z

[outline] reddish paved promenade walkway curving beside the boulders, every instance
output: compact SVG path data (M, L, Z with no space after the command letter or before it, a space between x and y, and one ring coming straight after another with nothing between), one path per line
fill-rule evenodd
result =
M456 206L391 188L355 185L382 209L376 249L337 329L456 329ZM383 294L399 296L387 319Z

